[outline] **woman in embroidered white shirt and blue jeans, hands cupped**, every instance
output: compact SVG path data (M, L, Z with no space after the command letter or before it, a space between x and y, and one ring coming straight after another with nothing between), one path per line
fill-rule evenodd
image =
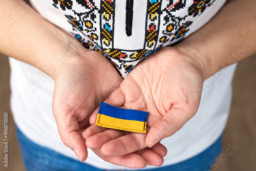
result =
M231 64L256 52L254 1L30 3L37 12L2 2L0 34L1 52L15 58L11 105L28 170L210 168ZM100 101L150 112L147 134L95 126Z

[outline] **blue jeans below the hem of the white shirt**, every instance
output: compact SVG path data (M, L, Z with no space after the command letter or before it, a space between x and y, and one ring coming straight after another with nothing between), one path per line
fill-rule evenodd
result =
M63 156L52 149L40 146L29 140L16 127L17 137L22 151L22 157L27 171L71 171L71 170L90 170L90 171L104 171L93 167L89 164L74 160L72 158ZM211 165L214 164L215 159L221 152L222 135L219 139L209 146L205 151L183 162L154 168L143 169L145 171L207 171ZM114 171L114 170L113 170Z

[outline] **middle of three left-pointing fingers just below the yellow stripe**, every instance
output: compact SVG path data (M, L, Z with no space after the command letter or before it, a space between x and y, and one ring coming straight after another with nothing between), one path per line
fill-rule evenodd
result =
M97 126L99 127L99 126ZM102 129L100 129L102 130ZM86 145L89 148L101 148L101 146L106 143L109 142L113 139L119 138L121 136L126 135L128 132L125 131L118 131L118 130L106 130L102 133L98 133L94 136L91 136L89 138L87 138L86 140Z

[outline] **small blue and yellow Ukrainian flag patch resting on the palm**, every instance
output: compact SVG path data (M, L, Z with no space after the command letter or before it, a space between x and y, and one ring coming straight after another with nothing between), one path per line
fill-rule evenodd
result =
M100 102L96 125L136 133L146 133L148 112L117 108Z

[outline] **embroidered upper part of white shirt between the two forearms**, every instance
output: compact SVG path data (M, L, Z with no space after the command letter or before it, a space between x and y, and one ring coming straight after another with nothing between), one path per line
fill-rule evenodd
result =
M191 25L205 10L215 8L211 7L215 3L220 1L44 1L44 4L51 5L49 10L63 16L59 18L60 22L70 24L68 31L84 47L107 57L123 77L142 59L193 32ZM41 11L39 7L36 9ZM53 19L56 16L50 17L55 24Z

